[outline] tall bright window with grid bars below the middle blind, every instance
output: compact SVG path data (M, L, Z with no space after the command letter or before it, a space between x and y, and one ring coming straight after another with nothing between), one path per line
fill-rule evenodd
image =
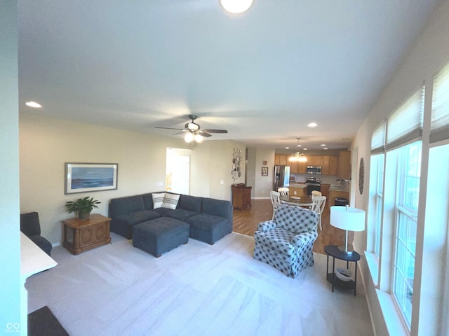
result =
M410 328L418 197L420 195L421 141L398 148L396 234L393 294Z

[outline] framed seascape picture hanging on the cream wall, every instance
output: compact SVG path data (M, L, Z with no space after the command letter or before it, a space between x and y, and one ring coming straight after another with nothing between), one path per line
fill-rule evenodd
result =
M65 162L65 195L117 189L118 163Z

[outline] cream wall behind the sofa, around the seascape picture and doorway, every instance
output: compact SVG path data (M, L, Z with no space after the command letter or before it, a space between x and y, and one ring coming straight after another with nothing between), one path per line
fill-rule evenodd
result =
M191 152L190 195L231 200L234 141L203 141ZM101 202L93 213L107 216L111 198L165 190L166 148L188 148L177 137L117 130L69 120L20 115L20 213L39 212L42 235L62 240L61 220L74 214L64 204L86 195ZM244 147L243 147L244 151ZM64 195L65 162L118 163L118 189ZM224 181L220 185L220 181ZM163 182L163 186L157 186Z

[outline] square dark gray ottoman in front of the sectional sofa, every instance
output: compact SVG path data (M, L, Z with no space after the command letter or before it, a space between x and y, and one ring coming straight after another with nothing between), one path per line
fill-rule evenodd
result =
M135 225L133 246L160 257L162 253L189 241L189 224L174 218L161 217Z

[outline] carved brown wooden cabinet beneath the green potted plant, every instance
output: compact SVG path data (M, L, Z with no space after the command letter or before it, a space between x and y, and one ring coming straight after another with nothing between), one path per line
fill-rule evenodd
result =
M73 254L79 254L111 242L109 223L111 218L93 214L86 221L71 218L62 221L62 245Z

